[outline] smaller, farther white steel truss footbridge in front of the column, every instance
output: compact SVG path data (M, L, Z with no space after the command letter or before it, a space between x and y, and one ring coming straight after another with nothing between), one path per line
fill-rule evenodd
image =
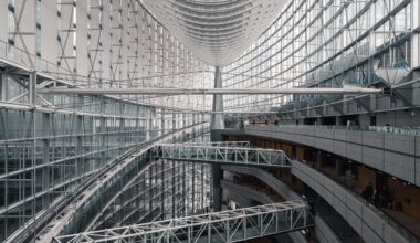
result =
M233 163L241 166L291 167L288 157L282 150L211 145L161 144L155 147L157 156L164 159Z

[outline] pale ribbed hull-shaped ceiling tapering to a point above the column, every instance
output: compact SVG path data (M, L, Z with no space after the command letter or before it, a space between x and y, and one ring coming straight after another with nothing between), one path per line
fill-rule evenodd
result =
M282 0L140 0L195 55L223 66L280 14Z

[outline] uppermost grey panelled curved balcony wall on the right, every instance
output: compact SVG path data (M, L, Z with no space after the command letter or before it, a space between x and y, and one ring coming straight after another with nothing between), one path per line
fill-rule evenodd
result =
M420 186L420 136L315 126L248 126L245 134L322 149Z

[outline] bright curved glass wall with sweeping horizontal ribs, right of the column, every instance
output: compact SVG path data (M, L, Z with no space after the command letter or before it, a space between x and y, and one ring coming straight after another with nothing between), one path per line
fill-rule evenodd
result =
M367 86L378 68L410 68L411 1L288 1L279 19L223 68L229 88ZM225 110L269 109L316 95L224 96Z

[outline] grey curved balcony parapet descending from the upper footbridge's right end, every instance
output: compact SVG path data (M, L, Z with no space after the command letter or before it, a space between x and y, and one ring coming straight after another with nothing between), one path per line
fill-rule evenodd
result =
M360 196L316 169L293 160L292 173L324 198L366 242L419 242Z

